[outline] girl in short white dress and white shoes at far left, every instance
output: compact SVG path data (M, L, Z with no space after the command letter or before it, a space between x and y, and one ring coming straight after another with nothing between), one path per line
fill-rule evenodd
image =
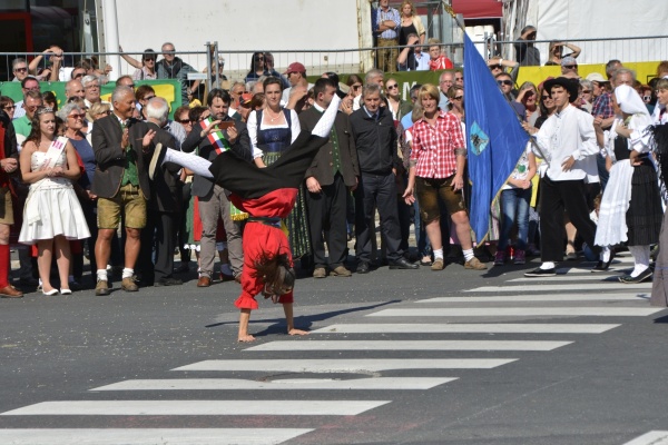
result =
M60 293L71 294L68 240L88 238L90 231L72 188L72 181L81 175L77 154L67 138L56 136L56 115L50 108L40 107L35 112L32 130L23 142L19 164L23 181L30 184L19 243L37 244L37 264L45 295L58 294L49 279L53 255Z

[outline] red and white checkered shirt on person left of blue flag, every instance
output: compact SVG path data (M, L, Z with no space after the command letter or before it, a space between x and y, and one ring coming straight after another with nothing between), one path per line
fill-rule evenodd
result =
M420 119L411 128L413 149L411 161L415 161L415 176L421 178L448 178L456 171L454 150L464 148L464 135L456 116L440 110L436 126Z

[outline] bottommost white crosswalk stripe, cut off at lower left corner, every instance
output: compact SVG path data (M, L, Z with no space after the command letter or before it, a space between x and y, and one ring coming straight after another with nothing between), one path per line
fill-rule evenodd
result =
M0 429L0 443L14 445L275 445L305 428L36 428Z

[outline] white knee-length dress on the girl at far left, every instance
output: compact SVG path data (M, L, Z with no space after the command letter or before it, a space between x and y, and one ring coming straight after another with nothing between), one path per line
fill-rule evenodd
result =
M30 158L30 169L39 170L46 159L46 152L35 151ZM56 166L66 165L62 150ZM43 178L30 185L19 243L32 245L39 239L53 239L57 235L70 240L85 239L90 237L90 231L71 180Z

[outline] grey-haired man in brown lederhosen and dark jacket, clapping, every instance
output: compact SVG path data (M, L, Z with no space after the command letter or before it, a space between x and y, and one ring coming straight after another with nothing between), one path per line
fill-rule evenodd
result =
M121 211L127 235L121 288L126 291L138 289L132 276L139 255L140 231L146 226L146 201L150 198L146 166L150 161L156 135L146 123L132 119L135 91L131 88L117 87L111 102L114 112L96 120L92 129L97 169L90 191L98 196L99 227L95 244L99 267L96 295L109 295L107 263Z

